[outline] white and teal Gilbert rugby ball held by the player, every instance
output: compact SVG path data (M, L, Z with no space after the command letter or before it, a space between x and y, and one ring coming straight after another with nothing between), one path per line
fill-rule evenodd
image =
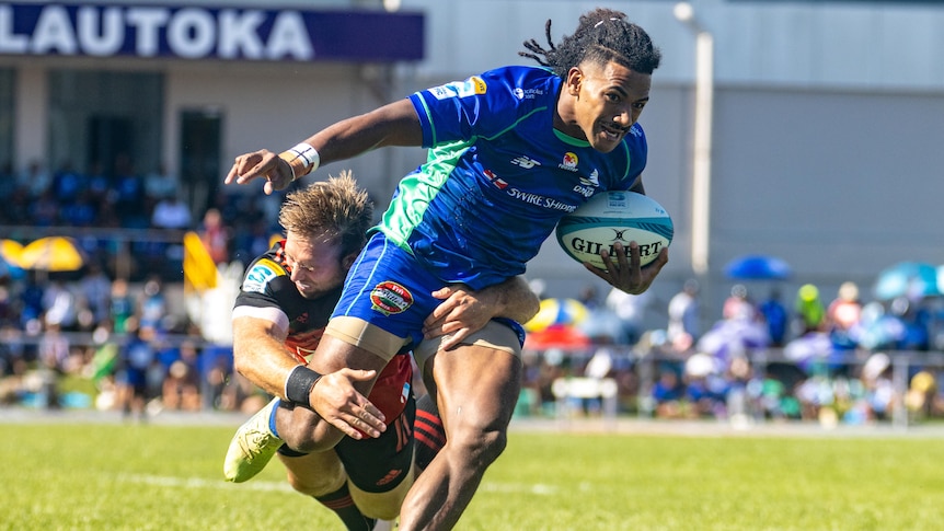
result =
M635 192L603 192L595 195L557 222L557 242L577 262L589 262L606 269L600 251L617 261L613 246L623 244L630 256L630 242L640 245L640 264L656 259L672 242L672 219L655 199Z

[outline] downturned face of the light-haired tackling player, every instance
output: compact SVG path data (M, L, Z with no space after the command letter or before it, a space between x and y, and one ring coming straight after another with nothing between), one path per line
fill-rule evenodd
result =
M285 239L286 265L298 292L314 299L344 282L341 244L335 239L301 238L289 231Z

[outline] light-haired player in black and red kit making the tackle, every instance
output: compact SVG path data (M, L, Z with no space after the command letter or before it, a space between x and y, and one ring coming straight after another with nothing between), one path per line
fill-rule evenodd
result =
M334 449L304 453L284 446L269 423L277 409L299 405L289 400L286 380L318 348L372 220L367 192L358 189L347 172L288 195L279 211L286 238L246 268L232 321L237 370L277 397L240 429L223 469L227 480L244 482L275 450L296 490L333 510L348 530L360 531L372 529L378 519L396 518L415 474L444 442L435 405L428 395L416 401L412 392L408 353L394 356L368 396L389 419L390 429L379 438L344 438ZM470 311L502 310L492 301L508 296L519 308L517 313L510 309L511 316L528 319L534 313L538 299L521 278L480 293L445 290L442 310L450 310L454 319L440 321L440 330L430 335L442 326L464 325L462 319ZM452 313L460 301L464 311ZM234 459L254 447L263 450L255 459Z

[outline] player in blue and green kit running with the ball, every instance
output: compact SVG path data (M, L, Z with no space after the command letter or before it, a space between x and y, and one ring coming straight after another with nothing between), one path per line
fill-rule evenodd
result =
M321 163L388 146L428 149L353 265L311 372L289 378L287 386L308 392L316 412L291 412L280 435L292 448L325 448L343 434L376 437L384 429L383 415L365 399L373 379L333 371L379 371L404 346L418 345L423 322L439 303L436 290L453 284L479 290L520 275L561 217L592 195L644 192L647 148L636 120L649 100L658 49L642 27L609 9L582 15L574 34L556 45L550 22L545 33L548 49L529 41L521 54L540 67L497 68L421 91L279 154L260 150L235 159L227 183L261 177L272 193ZM612 267L585 266L629 293L645 291L668 262L664 250L641 267L634 243L615 251ZM402 530L453 527L505 448L521 385L521 328L492 320L469 332L414 350L447 443L407 494Z

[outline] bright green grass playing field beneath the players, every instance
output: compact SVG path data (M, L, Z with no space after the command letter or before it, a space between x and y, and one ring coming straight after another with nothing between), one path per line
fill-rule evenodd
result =
M0 424L0 529L341 529L280 464L221 480L234 426ZM458 529L944 526L944 440L513 430Z

